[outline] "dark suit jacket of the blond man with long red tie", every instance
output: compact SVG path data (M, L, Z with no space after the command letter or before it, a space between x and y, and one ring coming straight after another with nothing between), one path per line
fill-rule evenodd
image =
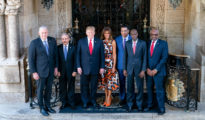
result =
M94 38L94 48L90 55L87 37L78 41L77 68L82 68L83 74L96 75L100 68L105 67L105 55L103 41Z

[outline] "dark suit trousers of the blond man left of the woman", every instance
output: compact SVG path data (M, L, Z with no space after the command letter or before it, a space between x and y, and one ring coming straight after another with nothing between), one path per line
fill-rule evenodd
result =
M83 104L87 104L89 101L96 104L97 83L98 75L81 75L80 90Z

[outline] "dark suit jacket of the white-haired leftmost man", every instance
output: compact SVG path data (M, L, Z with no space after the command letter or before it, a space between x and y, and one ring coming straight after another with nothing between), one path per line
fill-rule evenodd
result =
M49 55L40 38L31 41L29 46L28 60L30 72L37 72L41 78L54 74L54 68L58 67L58 52L56 40L48 37Z

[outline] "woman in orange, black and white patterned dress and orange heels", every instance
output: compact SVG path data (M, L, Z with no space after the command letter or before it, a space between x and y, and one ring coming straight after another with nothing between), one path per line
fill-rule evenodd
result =
M103 40L105 48L105 73L99 77L99 89L105 90L104 106L111 105L112 91L118 90L118 72L116 70L116 42L112 38L112 31L110 27L105 27L101 33L101 40Z

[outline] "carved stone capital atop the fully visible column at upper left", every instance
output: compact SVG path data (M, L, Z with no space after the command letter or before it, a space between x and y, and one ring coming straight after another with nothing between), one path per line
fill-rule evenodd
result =
M7 0L5 14L6 15L17 15L18 9L20 7L21 7L20 0Z

